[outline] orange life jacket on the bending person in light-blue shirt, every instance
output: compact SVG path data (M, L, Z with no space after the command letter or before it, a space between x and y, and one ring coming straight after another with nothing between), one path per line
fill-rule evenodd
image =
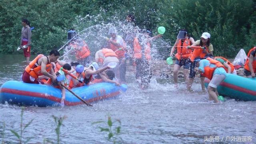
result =
M215 68L211 68L210 66L204 67L204 73L201 73L201 75L212 80L214 70L216 68L224 68L224 66L218 60L214 60L212 58L206 58L206 60L209 60L211 64L215 64L216 67Z

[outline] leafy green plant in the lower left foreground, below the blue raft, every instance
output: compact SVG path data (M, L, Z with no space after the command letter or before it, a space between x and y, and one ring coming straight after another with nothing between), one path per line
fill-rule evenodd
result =
M20 117L21 117L21 122L20 122L20 134L18 134L18 132L14 131L14 130L11 130L11 132L18 138L18 141L19 141L19 144L22 143L22 134L24 132L24 130L32 123L32 120L30 120L30 122L28 122L28 124L26 124L24 127L22 127L23 125L23 114L24 114L24 110L25 110L25 107L21 107L21 114L20 114ZM26 144L30 141L31 138L28 138L28 140L26 140L25 142L23 142L23 144Z

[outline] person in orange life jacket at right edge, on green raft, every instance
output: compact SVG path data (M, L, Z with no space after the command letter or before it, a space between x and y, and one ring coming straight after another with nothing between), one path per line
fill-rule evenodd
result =
M247 60L244 64L244 73L247 78L255 78L256 73L256 46L247 54Z

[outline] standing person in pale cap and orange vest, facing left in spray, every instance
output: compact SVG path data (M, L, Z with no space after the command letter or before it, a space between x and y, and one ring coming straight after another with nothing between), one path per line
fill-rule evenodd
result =
M108 31L108 34L111 36L110 39L108 39L108 48L113 50L119 59L119 66L118 66L118 79L121 81L121 83L125 83L125 74L126 74L126 56L125 56L125 50L126 50L126 44L123 40L123 38L119 35L117 35L116 28L110 28Z

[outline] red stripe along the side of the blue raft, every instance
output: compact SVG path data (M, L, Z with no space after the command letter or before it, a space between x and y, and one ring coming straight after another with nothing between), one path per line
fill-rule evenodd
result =
M39 92L28 92L28 91L24 91L24 90L14 90L14 89L10 89L10 88L2 88L1 92L6 92L6 93L10 93L10 94L18 94L18 95L24 95L24 96L32 96L32 97L38 97L38 98L45 98L54 102L60 102L60 98L56 98L55 96L51 96L51 95L47 95L47 94L42 94ZM91 102L95 102L101 99L105 99L105 98L112 98L114 96L119 95L120 92L112 92L110 94L104 94L103 96L98 96L96 98L90 98L88 100L86 100L86 102L91 103ZM66 106L75 106L78 104L83 104L83 102L68 102L65 101L65 105Z

